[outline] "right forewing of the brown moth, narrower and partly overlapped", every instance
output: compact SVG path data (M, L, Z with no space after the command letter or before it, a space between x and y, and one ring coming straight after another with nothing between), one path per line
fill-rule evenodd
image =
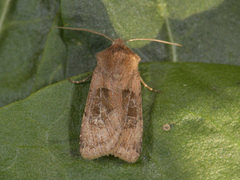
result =
M140 156L143 134L141 82L135 71L128 88L122 90L123 129L112 154L127 162L136 162Z

